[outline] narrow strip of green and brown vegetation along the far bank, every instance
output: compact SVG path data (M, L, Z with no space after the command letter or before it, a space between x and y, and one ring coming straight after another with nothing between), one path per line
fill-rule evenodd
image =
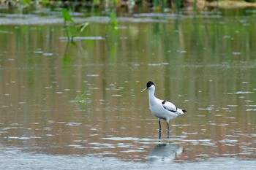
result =
M206 6L221 6L225 7L256 7L256 0L9 0L3 1L0 6L20 7L64 7L72 11L79 11L81 7L91 8L92 10L99 9L132 9L135 8L150 10L154 9L161 12L180 12L181 9L204 9ZM227 5L226 5L227 4ZM159 10L160 9L160 10Z

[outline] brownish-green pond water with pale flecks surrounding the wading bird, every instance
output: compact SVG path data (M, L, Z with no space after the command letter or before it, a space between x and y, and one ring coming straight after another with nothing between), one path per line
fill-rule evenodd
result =
M134 18L0 27L1 169L253 169L255 16ZM187 110L160 142L148 80Z

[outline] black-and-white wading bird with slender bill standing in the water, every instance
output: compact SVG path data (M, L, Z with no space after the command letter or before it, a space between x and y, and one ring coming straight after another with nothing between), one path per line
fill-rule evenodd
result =
M156 87L154 82L147 82L146 88L143 89L141 92L148 90L148 99L149 99L149 109L151 113L158 118L159 120L159 138L161 138L161 120L167 121L167 134L170 134L169 122L170 120L178 117L179 115L183 115L187 112L184 109L179 109L170 101L165 101L157 98L155 96Z

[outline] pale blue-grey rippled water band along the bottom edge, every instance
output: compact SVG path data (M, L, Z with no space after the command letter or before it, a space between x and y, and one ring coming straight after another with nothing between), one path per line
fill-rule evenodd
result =
M210 158L197 162L140 163L116 158L85 155L45 155L20 152L15 148L1 150L1 169L254 169L254 161L236 158Z

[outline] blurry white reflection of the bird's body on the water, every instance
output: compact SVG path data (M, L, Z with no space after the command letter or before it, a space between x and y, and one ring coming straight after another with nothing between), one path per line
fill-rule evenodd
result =
M183 147L179 144L157 144L149 154L149 161L171 163L175 158L181 155Z

